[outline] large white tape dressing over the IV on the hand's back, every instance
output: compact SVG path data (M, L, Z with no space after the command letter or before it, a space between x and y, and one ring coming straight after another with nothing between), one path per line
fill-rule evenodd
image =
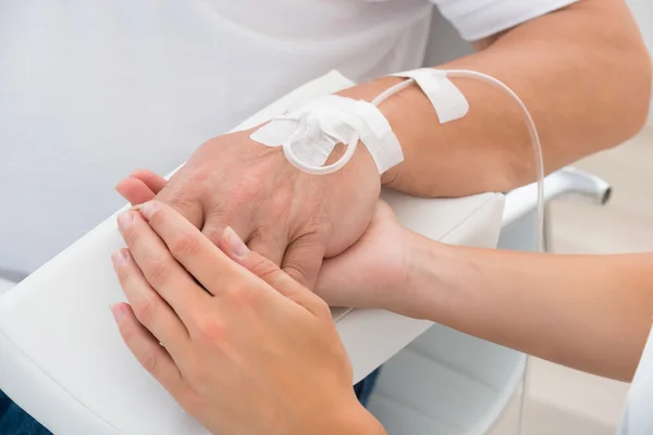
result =
M292 152L293 164L307 172L316 172L324 165L338 142L355 147L358 139L372 156L379 173L404 160L399 141L375 105L335 95L276 116L250 137L268 147L283 146L286 156ZM352 158L353 149L347 151L350 152L330 166L342 167Z

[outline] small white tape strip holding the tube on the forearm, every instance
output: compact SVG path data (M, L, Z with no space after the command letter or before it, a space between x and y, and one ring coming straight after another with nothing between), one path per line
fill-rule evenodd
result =
M417 86L431 101L441 124L459 120L469 111L467 99L460 89L448 79L445 71L426 67L391 75L415 79Z

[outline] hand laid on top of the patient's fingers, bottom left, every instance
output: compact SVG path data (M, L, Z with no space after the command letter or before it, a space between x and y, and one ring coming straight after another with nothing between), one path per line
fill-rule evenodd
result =
M121 214L119 227L122 337L212 433L384 433L354 395L326 304L231 228L221 250L159 201Z

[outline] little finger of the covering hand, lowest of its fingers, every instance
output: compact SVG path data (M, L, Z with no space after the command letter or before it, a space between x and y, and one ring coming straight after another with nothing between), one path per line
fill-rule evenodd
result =
M136 319L127 303L111 307L120 335L140 365L174 397L185 387L180 370L159 341Z

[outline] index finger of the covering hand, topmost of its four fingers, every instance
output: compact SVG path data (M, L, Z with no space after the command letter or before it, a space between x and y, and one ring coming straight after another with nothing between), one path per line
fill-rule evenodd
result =
M172 257L211 294L218 295L224 285L238 278L233 262L171 207L150 201L140 208L140 213Z

